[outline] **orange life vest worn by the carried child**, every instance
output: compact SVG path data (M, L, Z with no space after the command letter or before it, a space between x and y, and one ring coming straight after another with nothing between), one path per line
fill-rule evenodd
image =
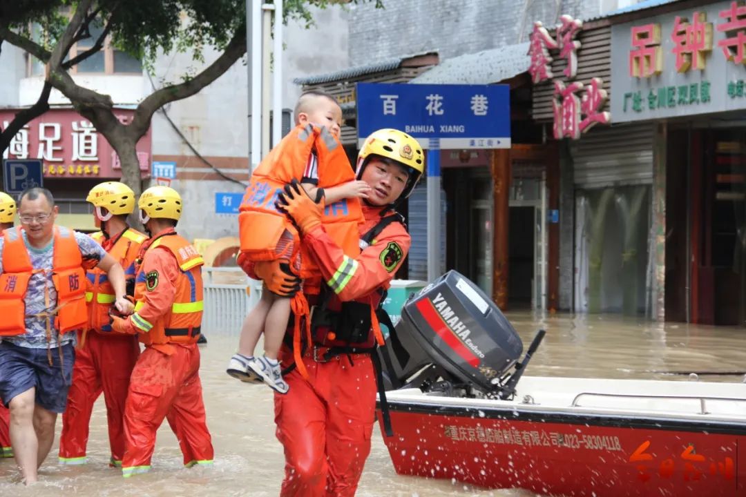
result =
M295 228L282 212L278 212L275 201L283 186L293 179L301 180L313 151L318 159L319 188L339 186L355 179L345 149L325 127L296 126L251 174L239 208L241 252L250 260L276 259L275 249L285 229L298 241ZM363 221L363 210L357 198L345 198L325 206L322 216L327 233L351 257L360 253L358 227ZM306 279L318 274L319 268L310 257L304 256L301 247L301 277ZM304 289L308 291L307 285Z

